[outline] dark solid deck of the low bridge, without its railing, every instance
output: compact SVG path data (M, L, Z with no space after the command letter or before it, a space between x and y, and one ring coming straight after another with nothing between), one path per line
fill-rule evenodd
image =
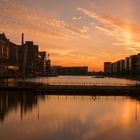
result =
M140 95L140 86L95 86L95 85L18 85L1 87L6 91L26 91L45 94L65 95Z

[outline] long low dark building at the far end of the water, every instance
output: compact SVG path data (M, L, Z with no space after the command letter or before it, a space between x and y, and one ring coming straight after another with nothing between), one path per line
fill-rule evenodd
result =
M86 75L88 73L88 67L51 67L51 72L54 75Z

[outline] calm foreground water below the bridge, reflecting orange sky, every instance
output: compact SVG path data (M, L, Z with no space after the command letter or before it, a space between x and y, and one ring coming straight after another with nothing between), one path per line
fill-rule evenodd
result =
M0 140L139 140L131 97L0 94Z

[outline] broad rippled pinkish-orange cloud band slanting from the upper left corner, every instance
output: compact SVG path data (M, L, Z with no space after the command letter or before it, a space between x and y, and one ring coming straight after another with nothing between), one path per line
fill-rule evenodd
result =
M84 35L87 31L85 27L80 25L75 27L75 25L68 24L62 19L46 14L45 11L34 10L13 0L2 0L0 9L0 22L5 24L5 26L14 25L23 29L42 31L46 32L47 36L62 37L62 39L69 38L71 36L70 33L79 37L86 36Z

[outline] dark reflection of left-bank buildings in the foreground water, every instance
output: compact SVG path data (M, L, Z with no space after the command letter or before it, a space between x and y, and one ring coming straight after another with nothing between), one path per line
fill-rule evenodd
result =
M20 108L20 117L22 119L25 114L37 108L39 100L44 99L44 95L35 96L34 93L0 93L0 121L3 122L9 112L17 110L17 108Z

